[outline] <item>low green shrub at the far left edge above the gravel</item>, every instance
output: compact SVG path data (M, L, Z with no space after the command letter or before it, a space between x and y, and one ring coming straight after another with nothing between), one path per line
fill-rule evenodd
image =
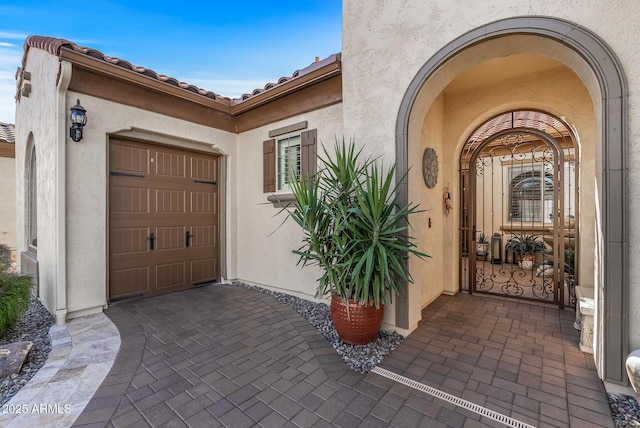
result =
M29 307L31 278L11 270L11 251L0 244L0 336Z

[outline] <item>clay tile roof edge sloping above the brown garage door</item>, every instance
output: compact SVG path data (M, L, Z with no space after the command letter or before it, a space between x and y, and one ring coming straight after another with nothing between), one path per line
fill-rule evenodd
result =
M79 53L85 54L87 56L90 56L92 58L95 58L97 60L104 61L106 63L115 65L117 67L121 67L121 68L130 70L130 71L133 71L135 73L139 73L139 74L145 75L147 77L159 80L161 82L168 83L170 85L176 86L178 88L182 88L184 90L187 90L189 92L193 92L195 94L202 95L202 96L210 98L212 100L216 100L216 99L219 99L219 98L223 98L223 99L229 100L229 98L227 98L227 97L222 97L222 96L220 96L220 95L218 95L218 94L216 94L214 92L207 91L207 90L202 89L202 88L198 88L197 86L190 85L188 83L180 82L179 80L174 79L173 77L168 77L168 76L165 76L163 74L158 74L155 71L150 70L148 68L144 68L144 67L140 67L140 66L137 66L137 65L133 65L129 61L125 61L124 59L105 55L102 52L100 52L99 50L91 49L91 48L87 48L87 47L83 47L83 46L78 46L75 43L70 42L69 40L57 39L57 38L53 38L53 37L29 36L29 37L27 37L27 39L24 42L25 56L26 56L27 49L29 47L43 49L43 50L49 52L52 55L60 55L60 49L62 47L65 47L65 48L71 49L71 50L73 50L75 52L79 52ZM24 60L23 60L23 62L24 62Z

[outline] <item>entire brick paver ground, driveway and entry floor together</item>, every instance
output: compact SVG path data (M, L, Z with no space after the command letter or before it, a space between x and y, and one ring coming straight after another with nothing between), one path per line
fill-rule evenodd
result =
M109 375L75 426L505 426L349 370L306 320L229 285L121 303ZM440 297L381 365L534 426L613 426L572 311Z

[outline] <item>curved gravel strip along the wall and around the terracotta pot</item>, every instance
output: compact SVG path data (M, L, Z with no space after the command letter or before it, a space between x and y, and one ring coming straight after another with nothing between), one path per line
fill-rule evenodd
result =
M278 293L241 282L234 282L238 287L258 290L273 296L298 312L311 323L331 343L338 355L351 369L359 373L368 373L380 364L384 357L396 349L404 338L398 333L381 330L378 337L366 345L348 345L338 338L338 333L331 321L331 310L324 303L314 303L285 293Z

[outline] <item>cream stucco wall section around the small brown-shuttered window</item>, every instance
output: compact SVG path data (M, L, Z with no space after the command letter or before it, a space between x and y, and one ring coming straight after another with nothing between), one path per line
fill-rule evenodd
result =
M263 193L262 186L262 142L269 139L270 130L301 121L307 121L306 129L317 129L319 152L322 145L332 150L336 138L342 139L341 104L253 129L238 137L237 278L313 299L320 273L313 266L297 266L298 257L292 254L302 243L302 231L292 220L282 224L286 213L267 201L271 193Z

